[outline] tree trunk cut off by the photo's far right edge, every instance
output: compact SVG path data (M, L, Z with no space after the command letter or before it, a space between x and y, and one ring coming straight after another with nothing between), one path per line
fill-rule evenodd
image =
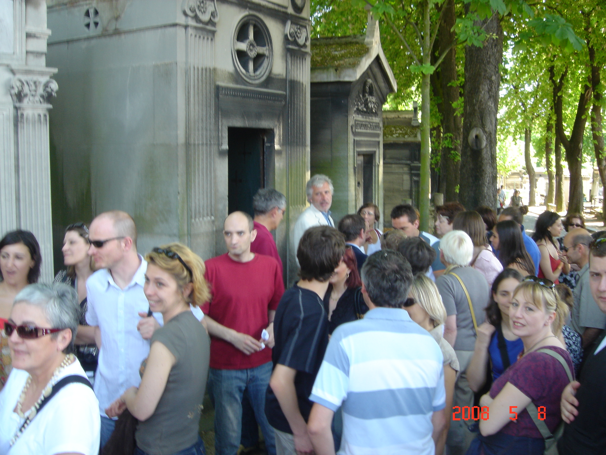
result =
M602 130L602 92L600 91L600 71L596 65L596 50L588 45L589 61L591 64L591 90L593 91L593 105L591 106L591 138L593 151L596 155L596 164L600 180L602 181L602 220L606 226L606 156L604 155L604 135ZM594 195L596 197L597 195Z

